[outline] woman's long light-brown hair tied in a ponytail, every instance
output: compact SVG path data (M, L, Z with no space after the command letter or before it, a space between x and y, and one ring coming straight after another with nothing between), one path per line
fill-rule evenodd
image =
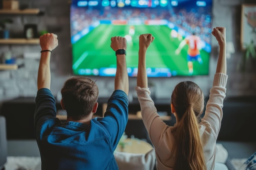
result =
M198 128L198 117L204 108L202 90L193 82L180 82L174 88L171 103L178 119L173 128L176 137L173 170L206 170Z

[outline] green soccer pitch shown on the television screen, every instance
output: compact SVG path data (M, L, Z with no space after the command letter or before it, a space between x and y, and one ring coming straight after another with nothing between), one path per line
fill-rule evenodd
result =
M111 49L111 37L127 36L126 61L127 67L137 68L139 35L151 33L155 40L148 47L146 54L146 66L150 68L170 68L173 75L189 75L187 66L187 49L184 46L179 55L175 49L181 40L170 36L171 29L168 26L138 25L135 34L129 36L130 25L100 24L79 41L72 45L73 70L79 74L79 69L109 68L116 67L115 52ZM192 75L208 75L209 53L200 51L203 63L193 62L194 72Z

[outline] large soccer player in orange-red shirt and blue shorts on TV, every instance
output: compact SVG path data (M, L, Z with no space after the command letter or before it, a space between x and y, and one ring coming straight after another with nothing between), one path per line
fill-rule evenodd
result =
M193 61L197 61L200 64L203 63L201 55L200 55L200 50L202 49L202 42L200 38L193 33L193 35L190 35L186 37L182 42L180 42L180 45L178 48L175 50L176 54L179 54L182 48L188 44L189 49L188 49L188 55L187 55L187 61L188 61L188 67L189 67L189 74L193 73Z

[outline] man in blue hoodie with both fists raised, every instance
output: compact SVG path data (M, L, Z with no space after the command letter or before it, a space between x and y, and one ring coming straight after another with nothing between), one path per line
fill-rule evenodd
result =
M126 39L112 37L116 51L115 91L108 99L104 118L92 119L98 103L97 84L87 77L71 77L61 90L61 106L67 122L56 118L55 99L50 91L50 57L58 46L57 35L40 37L38 92L34 125L42 170L118 170L113 152L128 121L128 73Z

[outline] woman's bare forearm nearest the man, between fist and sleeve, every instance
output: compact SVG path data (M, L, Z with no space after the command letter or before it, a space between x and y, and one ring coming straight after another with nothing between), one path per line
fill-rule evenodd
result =
M148 77L146 71L146 49L139 49L137 86L141 88L148 87Z

